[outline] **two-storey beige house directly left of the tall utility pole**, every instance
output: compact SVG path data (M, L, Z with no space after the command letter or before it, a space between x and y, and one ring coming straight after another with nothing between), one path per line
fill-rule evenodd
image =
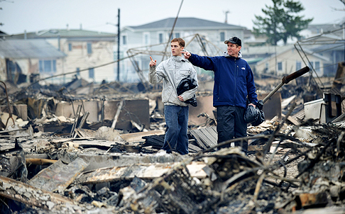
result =
M115 34L82 29L53 29L5 37L5 40L13 39L44 39L65 54L59 62L40 60L37 69L33 71L40 74L40 79L54 76L45 80L54 84L67 83L75 75L89 82L115 80L114 63L111 63L114 62Z

